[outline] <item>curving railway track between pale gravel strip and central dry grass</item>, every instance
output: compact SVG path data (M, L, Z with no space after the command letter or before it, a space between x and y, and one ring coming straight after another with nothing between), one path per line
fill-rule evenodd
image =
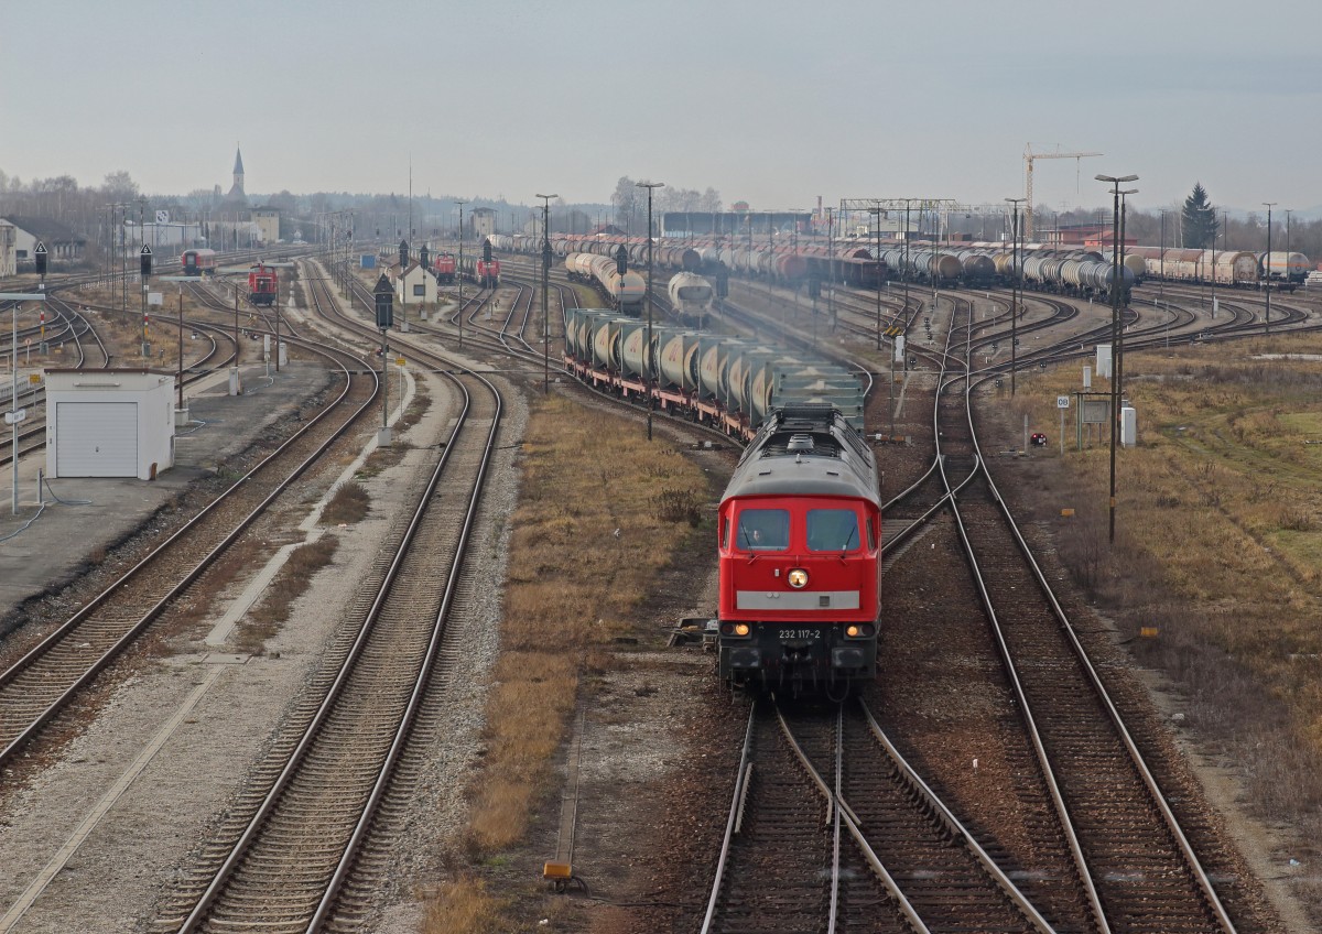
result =
M209 845L204 863L219 865L196 873L180 896L186 904L205 881L192 910L181 918L167 913L159 929L357 930L383 882L389 840L373 840L374 814L389 803L391 775L434 678L459 651L446 624L500 428L496 388L472 374L451 379L465 396L464 411L412 521L391 543L394 559L352 646L330 668L324 701L295 713L305 728L287 731L268 758L284 766L254 781L268 791L237 808L253 811L237 836L231 820ZM446 494L438 493L442 484Z

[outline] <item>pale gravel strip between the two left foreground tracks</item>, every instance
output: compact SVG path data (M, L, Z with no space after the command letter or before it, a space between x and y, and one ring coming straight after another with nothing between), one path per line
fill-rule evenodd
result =
M12 930L124 931L151 922L151 906L235 797L249 764L316 668L321 646L348 625L344 608L378 560L382 532L420 491L451 417L447 384L427 379L432 406L407 433L416 447L364 481L371 513L330 530L340 536L332 564L263 653L246 657L204 643L242 591L243 579L235 580L205 618L131 659L131 671L112 675L108 703L85 732L58 762L8 797L0 814L7 863L0 904L11 912L7 922L16 922ZM308 478L307 501L327 484ZM304 514L288 517L287 532Z

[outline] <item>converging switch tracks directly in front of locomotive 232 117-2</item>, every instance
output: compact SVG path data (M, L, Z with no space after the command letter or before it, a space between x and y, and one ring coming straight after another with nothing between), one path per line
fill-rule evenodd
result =
M866 704L755 703L701 930L1054 929Z

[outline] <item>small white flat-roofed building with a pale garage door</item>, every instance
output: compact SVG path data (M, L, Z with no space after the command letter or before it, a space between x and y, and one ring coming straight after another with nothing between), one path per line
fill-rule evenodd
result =
M175 374L46 370L46 474L155 480L175 464Z

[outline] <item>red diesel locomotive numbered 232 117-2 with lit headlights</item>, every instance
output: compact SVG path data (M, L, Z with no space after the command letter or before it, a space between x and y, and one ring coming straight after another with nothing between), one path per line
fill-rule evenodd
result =
M876 670L876 461L833 406L772 412L720 499L718 670L842 699Z

